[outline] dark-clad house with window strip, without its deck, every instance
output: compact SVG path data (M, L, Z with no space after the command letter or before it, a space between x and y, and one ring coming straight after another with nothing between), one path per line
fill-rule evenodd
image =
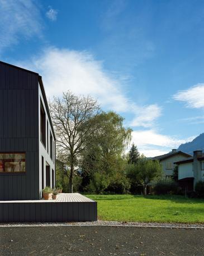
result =
M39 74L0 62L0 122L0 200L40 199L55 184L55 135Z

